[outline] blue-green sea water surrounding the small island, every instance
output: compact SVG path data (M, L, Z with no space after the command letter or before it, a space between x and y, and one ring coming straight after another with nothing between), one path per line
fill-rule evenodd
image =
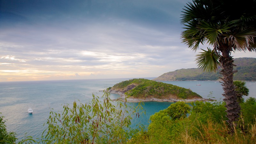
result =
M101 98L102 92L116 83L131 78L123 79L90 79L90 80L59 80L59 81L24 81L24 82L0 82L0 113L6 121L7 131L16 132L21 140L24 135L40 138L47 128L46 120L49 117L50 108L54 112L61 111L63 104L70 104L80 100L82 103L91 102L92 93ZM152 79L152 78L148 78ZM222 86L218 81L163 81L180 87L189 88L203 98L222 100ZM197 86L196 84L201 84ZM249 88L249 96L256 98L256 82L246 82ZM111 94L115 99L118 95ZM137 103L134 103L137 105ZM132 126L138 123L149 124L149 117L159 110L167 108L170 102L145 102L143 108L146 115L132 120ZM28 114L31 107L33 114ZM17 141L19 141L17 140Z

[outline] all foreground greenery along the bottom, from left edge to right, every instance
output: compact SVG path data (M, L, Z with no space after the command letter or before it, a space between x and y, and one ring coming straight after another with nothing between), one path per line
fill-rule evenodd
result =
M105 96L104 96L105 95ZM253 144L256 141L256 99L248 98L244 103L241 103L242 115L240 117L240 127L235 129L234 134L228 134L229 129L225 123L227 120L225 115L225 102L202 102L196 101L190 103L191 106L181 103L172 103L170 107L156 112L150 116L150 124L148 130L142 128L138 130L131 129L129 118L133 115L134 108L130 111L124 103L117 106L108 103L108 93L105 93L104 103L100 103L99 98L94 96L92 104L77 106L73 103L73 108L64 106L62 114L53 113L48 119L48 130L45 139L42 141L33 140L31 137L26 137L21 143L188 143L188 144L204 144L204 143L248 143ZM107 95L107 96L106 96ZM108 100L107 100L108 98ZM106 102L106 100L108 102ZM108 105L109 104L109 105ZM107 108L103 108L107 106ZM180 107L181 106L181 107ZM170 109L180 107L182 109L190 109L188 115L181 114L180 118L172 118ZM89 108L90 107L90 108ZM139 106L140 107L140 106ZM137 107L135 110L137 111ZM114 108L114 109L111 109ZM128 108L128 109L126 109ZM83 109L82 113L80 110ZM102 110L103 109L103 110ZM121 111L122 109L122 111ZM87 111L89 110L89 111ZM91 111L90 111L91 110ZM108 112L107 112L108 110ZM112 111L111 111L112 110ZM126 110L126 112L125 112ZM96 112L98 111L98 112ZM101 112L100 112L101 111ZM138 113L135 111L136 116ZM184 110L186 111L186 110ZM96 112L96 113L95 113ZM123 113L124 117L120 117ZM174 112L175 113L175 112ZM182 113L182 112L181 112ZM83 118L82 115L87 118ZM98 115L99 114L99 115ZM99 121L99 116L108 116L107 122ZM60 116L61 115L61 116ZM115 115L115 116L114 116ZM135 115L135 114L134 114ZM184 117L185 116L185 117ZM3 116L1 119L1 138L3 133L6 133ZM89 118L89 119L88 119ZM127 119L127 120L125 120ZM90 120L90 122L89 122ZM110 120L110 122L108 121ZM119 120L119 121L118 121ZM86 121L87 123L85 123ZM123 123L122 123L123 121ZM125 122L126 121L126 122ZM49 123L51 122L51 123ZM98 127L97 127L98 126ZM101 127L101 128L100 128ZM128 132L130 130L130 132ZM47 130L46 130L47 131ZM10 133L8 133L10 134ZM15 143L15 134L12 133L14 141L0 141L0 143ZM65 137L64 137L65 136ZM83 137L85 136L85 137ZM95 137L94 137L95 136ZM122 137L124 136L124 137ZM94 137L94 141L93 140ZM85 138L85 140L84 140ZM131 139L130 139L131 138ZM82 140L81 140L82 139Z

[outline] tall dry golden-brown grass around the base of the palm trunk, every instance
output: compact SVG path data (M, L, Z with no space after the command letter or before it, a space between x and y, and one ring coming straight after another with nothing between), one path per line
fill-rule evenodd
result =
M233 134L229 134L228 125L225 121L223 124L216 124L208 120L207 124L202 124L197 121L201 129L197 129L200 133L197 137L191 135L188 131L180 133L180 143L185 144L205 144L205 143L220 143L220 144L255 144L256 143L256 124L252 124L248 132L243 132L239 128L235 128ZM192 128L193 129L193 128ZM176 141L177 142L177 141Z

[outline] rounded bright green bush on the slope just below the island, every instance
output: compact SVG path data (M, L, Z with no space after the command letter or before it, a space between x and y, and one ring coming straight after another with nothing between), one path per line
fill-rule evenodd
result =
M190 111L190 106L183 101L178 101L171 104L167 109L167 114L172 117L172 119L180 119L181 117L186 117L188 111Z

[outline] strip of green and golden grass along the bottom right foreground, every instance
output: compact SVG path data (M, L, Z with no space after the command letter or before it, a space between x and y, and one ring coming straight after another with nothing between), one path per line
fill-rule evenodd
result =
M197 120L195 121L195 125L183 123L183 129L180 133L176 133L175 139L171 135L164 135L163 133L166 133L165 130L159 130L161 133L155 133L154 135L151 132L140 133L139 136L131 139L127 143L255 144L256 141L256 124L252 124L248 132L243 132L241 129L236 128L234 134L228 134L229 129L225 121L222 124L218 124L208 120L207 123L203 124ZM191 133L195 131L198 135Z

